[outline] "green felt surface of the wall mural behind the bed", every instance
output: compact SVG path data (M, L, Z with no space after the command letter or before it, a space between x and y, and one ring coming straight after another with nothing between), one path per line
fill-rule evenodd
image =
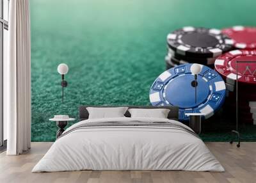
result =
M57 128L48 119L77 118L83 104L150 105L148 92L164 71L170 31L255 26L255 6L249 0L31 0L32 141L54 141ZM60 63L70 68L64 105ZM215 123L202 138L227 140L229 130ZM249 126L244 134L255 131Z

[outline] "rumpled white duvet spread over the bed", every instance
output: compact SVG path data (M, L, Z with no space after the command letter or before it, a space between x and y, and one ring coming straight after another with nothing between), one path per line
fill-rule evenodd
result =
M193 134L168 127L91 127L90 122L170 122L163 118L84 120L57 139L32 172L72 170L225 171L204 142ZM191 130L191 129L190 129ZM68 133L68 131L70 131ZM64 134L65 134L64 132Z

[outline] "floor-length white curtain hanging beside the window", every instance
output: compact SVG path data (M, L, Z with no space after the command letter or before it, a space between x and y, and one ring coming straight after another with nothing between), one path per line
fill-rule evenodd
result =
M28 0L11 0L8 60L4 63L4 119L8 155L31 143L30 18Z

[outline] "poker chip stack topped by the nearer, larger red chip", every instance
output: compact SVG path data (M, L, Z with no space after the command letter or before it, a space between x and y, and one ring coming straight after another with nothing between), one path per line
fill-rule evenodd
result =
M236 119L237 94L238 118L244 123L253 123L250 102L256 101L256 62L252 61L256 61L256 50L243 49L227 52L214 63L227 88L224 111Z

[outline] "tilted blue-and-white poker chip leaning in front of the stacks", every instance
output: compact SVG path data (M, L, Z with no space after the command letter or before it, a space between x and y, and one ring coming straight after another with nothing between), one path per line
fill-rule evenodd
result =
M163 72L150 88L152 106L178 106L179 120L189 120L186 113L204 113L205 118L214 115L225 101L226 86L221 76L211 68L200 65L197 77L197 97L192 82L191 63L179 65Z

